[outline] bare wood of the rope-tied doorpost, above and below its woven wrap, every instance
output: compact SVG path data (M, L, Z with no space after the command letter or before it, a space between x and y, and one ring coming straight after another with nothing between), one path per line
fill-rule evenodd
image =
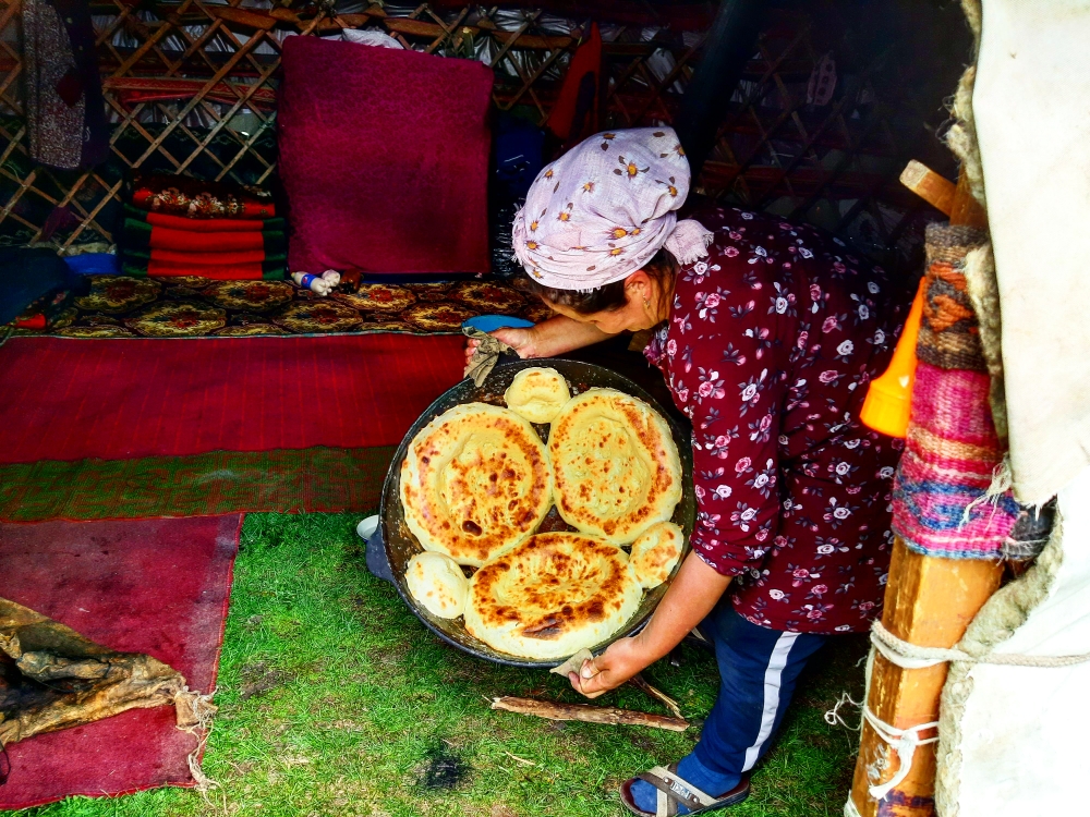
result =
M986 228L981 206L969 193L965 174L957 186L919 162L909 162L901 182L950 217L952 224ZM953 647L969 622L998 588L1002 563L973 559L938 559L910 551L894 541L882 624L894 635L921 647ZM938 720L938 697L946 682L946 664L906 670L874 656L867 706L880 720L897 729ZM924 733L923 737L934 734ZM879 802L871 785L897 771L897 756L869 723L863 723L851 800L861 817L877 817ZM908 777L891 791L882 817L934 815L935 744L919 746Z

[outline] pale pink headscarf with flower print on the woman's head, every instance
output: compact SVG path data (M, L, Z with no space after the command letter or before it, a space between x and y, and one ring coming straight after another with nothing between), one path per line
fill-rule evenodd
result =
M689 161L669 127L600 133L534 180L514 217L514 255L559 290L593 290L627 278L665 246L682 264L707 255L712 233L678 221Z

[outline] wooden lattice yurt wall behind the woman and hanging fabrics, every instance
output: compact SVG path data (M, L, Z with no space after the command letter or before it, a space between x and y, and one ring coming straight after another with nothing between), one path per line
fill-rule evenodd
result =
M112 242L132 168L270 181L286 37L376 28L410 48L479 59L495 69L496 108L543 123L590 23L579 14L593 13L605 40L602 122L625 127L674 121L715 13L711 2L667 14L668 3L613 1L584 10L566 0L545 8L341 0L295 10L269 0L94 0L111 156L90 171L59 171L27 150L20 3L0 0L0 244L48 239L61 247ZM904 260L924 214L899 190L900 169L919 158L952 172L934 136L945 119L942 95L965 58L956 3L778 5L729 105L716 112L716 145L695 190L808 219L876 257ZM829 61L835 88L815 98L814 77Z

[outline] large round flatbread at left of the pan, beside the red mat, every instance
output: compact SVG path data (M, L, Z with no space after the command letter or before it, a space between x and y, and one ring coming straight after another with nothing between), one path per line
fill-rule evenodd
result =
M541 437L514 412L456 405L428 423L401 465L401 504L425 550L480 566L536 529L553 503Z

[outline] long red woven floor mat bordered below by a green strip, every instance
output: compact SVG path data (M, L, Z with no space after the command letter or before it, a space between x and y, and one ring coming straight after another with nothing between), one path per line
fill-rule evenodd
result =
M0 354L0 462L395 446L461 336L71 340Z

